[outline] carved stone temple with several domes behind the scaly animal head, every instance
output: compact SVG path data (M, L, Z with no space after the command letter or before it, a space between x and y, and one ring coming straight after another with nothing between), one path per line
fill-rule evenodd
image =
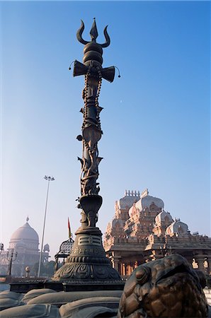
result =
M126 191L104 234L105 253L123 278L147 261L181 254L193 267L210 273L211 238L190 233L188 225L164 211L164 201L148 189Z

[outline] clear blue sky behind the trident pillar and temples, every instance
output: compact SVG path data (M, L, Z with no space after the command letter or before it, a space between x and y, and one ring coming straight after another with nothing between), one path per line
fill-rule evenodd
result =
M108 24L103 66L121 78L103 81L100 105L104 158L99 167L105 231L125 189L146 187L191 232L210 235L210 2L1 1L1 237L5 247L29 216L52 257L79 228L84 78L76 40L96 17L98 42Z

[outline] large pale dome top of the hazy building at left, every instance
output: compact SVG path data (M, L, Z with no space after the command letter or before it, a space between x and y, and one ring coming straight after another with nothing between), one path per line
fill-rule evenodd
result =
M11 236L10 243L17 242L20 240L28 240L31 242L39 243L38 233L30 227L28 222L26 222L21 228L18 228Z

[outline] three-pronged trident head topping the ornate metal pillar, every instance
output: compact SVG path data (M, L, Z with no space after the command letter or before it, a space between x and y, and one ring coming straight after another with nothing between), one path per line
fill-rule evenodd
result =
M97 43L98 45L100 45L101 47L108 47L108 45L110 45L110 37L108 35L108 32L107 32L107 28L108 28L108 25L106 25L103 33L104 33L104 36L105 36L105 43L103 44L99 44ZM82 38L82 33L84 32L84 21L81 20L81 27L79 28L79 30L77 31L77 39L79 40L79 42L81 42L82 44L86 45L90 42L96 42L96 38L98 37L98 30L97 30L97 27L96 27L96 18L93 18L93 24L91 26L91 31L90 31L90 35L91 35L91 41L86 41Z

